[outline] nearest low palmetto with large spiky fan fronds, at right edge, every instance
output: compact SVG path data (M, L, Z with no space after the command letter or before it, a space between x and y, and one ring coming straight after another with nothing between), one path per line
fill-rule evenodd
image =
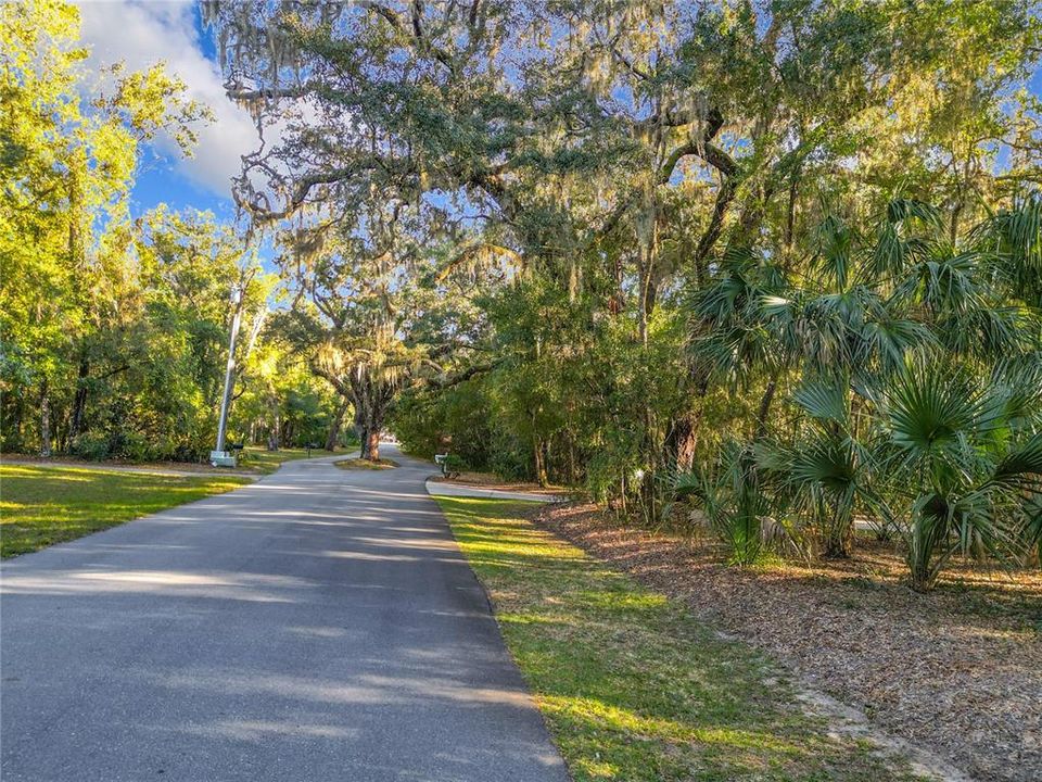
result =
M916 586L929 588L957 552L1002 558L1024 545L1042 478L1038 414L1025 409L1040 392L922 364L889 390L878 481L903 506Z

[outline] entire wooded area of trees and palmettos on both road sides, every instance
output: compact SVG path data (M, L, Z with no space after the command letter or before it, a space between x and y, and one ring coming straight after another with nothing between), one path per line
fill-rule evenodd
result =
M363 457L390 429L735 563L857 524L919 589L1037 562L1033 3L204 3L265 138L245 234L129 219L140 146L204 112L158 67L81 99L76 12L33 8L0 12L5 450L200 458L238 285L250 440L353 413Z

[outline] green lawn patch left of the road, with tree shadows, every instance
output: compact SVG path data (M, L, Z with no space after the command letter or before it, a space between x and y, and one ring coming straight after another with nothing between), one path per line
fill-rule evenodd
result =
M250 481L0 465L0 556L43 548Z

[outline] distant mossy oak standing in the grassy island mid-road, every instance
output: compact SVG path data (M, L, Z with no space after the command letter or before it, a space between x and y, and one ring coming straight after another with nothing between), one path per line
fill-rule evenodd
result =
M279 240L295 299L279 321L312 371L341 395L342 409L353 408L364 458L379 458L397 395L459 381L460 354L473 346L473 305L439 274L445 248L432 220L395 201L354 229L341 222L307 232L303 244L298 234Z

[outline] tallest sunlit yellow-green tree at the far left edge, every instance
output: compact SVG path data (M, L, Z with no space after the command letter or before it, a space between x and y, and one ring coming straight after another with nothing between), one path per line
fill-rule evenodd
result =
M111 92L89 96L78 37L79 12L68 3L0 7L3 377L38 407L43 455L53 395L78 393L88 380L84 337L113 316L106 294L128 274L127 203L140 146L166 129L188 152L191 123L205 114L158 65L130 74L117 66ZM14 426L23 426L21 413Z

